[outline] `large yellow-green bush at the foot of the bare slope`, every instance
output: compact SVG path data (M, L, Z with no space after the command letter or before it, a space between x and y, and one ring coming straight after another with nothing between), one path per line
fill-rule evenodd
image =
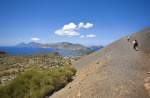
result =
M19 74L8 85L0 86L0 98L42 98L64 87L75 73L70 66L49 70L32 68Z

